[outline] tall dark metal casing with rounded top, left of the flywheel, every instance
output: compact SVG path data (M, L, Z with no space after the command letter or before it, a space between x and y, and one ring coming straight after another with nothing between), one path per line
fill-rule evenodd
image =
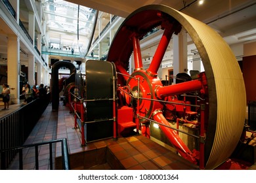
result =
M88 60L85 67L85 140L89 142L113 136L113 77L116 77L116 69L114 63L95 60Z

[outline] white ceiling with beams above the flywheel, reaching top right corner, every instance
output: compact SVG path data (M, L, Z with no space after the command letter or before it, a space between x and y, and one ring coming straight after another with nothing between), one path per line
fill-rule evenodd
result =
M256 1L255 0L68 0L86 7L115 14L123 18L144 5L162 4L181 10L215 29L228 44L256 40Z

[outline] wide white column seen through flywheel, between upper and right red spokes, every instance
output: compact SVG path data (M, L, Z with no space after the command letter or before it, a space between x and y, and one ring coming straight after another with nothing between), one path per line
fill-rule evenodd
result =
M173 35L173 75L187 73L188 48L186 32L181 30L178 35ZM176 82L176 80L175 80Z

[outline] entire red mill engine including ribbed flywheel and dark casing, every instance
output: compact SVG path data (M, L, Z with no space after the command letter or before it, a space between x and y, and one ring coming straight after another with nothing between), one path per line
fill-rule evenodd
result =
M155 27L160 27L163 35L145 69L140 40ZM163 86L158 69L171 37L179 35L181 29L194 41L205 72L193 77L182 73L182 82ZM129 74L131 56L135 68ZM69 84L68 92L78 88L83 103L74 96L66 101L69 105L77 103L75 112L82 122L79 127L85 131L83 143L135 133L150 138L156 124L179 156L200 169L215 169L230 158L242 138L245 86L234 54L208 25L173 8L148 5L135 10L119 27L107 61L87 61L85 85L81 76L75 78L79 81ZM95 120L97 115L100 119ZM97 122L92 125L91 121Z

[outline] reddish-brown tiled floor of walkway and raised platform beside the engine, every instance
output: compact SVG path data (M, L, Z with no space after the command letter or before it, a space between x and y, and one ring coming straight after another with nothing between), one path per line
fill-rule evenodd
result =
M74 129L74 117L68 108L62 105L59 106L58 112L52 111L51 104L46 108L26 144L63 138L68 139L72 169L199 169L198 166L141 135L119 138L117 141L106 139L81 146L81 133L79 129ZM56 169L60 168L57 163L58 157L61 156L60 149L60 143L56 144ZM35 169L34 151L34 148L24 150L24 169ZM9 169L18 169L17 159ZM49 169L48 146L39 148L39 169Z

